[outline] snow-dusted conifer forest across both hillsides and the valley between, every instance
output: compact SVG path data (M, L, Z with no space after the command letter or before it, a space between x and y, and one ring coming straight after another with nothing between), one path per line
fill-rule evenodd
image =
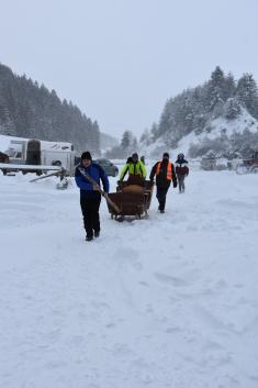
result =
M233 74L225 74L217 66L203 85L169 98L158 122L142 134L125 130L117 144L115 138L100 133L97 121L86 117L70 101L61 101L55 90L51 91L26 76L16 76L0 64L1 134L71 142L78 151L87 148L96 154L100 154L106 144L109 151L105 156L110 158L125 158L132 152L144 152L159 142L167 148L175 148L190 133L197 136L210 133L218 118L227 123L237 122L244 110L254 118L254 122L242 133L227 136L225 132L215 140L205 138L200 144L191 144L189 155L201 156L209 149L221 155L245 154L254 145L258 146L256 80L249 73L236 80Z

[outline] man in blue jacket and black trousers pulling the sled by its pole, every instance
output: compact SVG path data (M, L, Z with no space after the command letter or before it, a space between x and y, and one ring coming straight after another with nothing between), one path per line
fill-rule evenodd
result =
M90 182L85 175L89 175L97 185ZM81 162L76 168L75 178L77 186L80 188L80 207L83 215L86 240L91 241L93 236L99 237L100 235L100 180L104 192L108 193L109 179L102 167L92 163L92 157L88 151L81 155Z

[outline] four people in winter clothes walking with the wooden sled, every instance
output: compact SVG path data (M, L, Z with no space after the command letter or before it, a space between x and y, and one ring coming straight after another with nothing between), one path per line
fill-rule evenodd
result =
M146 179L147 170L145 164L138 158L138 154L134 153L126 160L125 166L120 174L120 180L125 176L141 176ZM169 160L169 154L165 152L162 159L157 162L150 171L149 179L154 181L156 178L158 210L165 212L166 197L168 189L172 182L173 188L179 187L179 192L184 192L184 178L189 174L188 162L183 154L179 154L175 165ZM80 165L76 168L75 179L80 188L80 207L86 229L86 240L91 241L100 235L100 217L99 208L101 202L100 181L103 186L104 196L109 193L109 179L98 164L92 162L91 154L83 152Z

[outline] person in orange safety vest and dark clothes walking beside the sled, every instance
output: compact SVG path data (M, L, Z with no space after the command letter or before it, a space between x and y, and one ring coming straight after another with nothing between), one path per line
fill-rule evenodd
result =
M171 162L169 162L169 154L164 153L162 160L157 162L149 175L149 179L153 181L156 176L156 185L157 185L157 199L158 199L158 210L160 213L165 213L166 206L166 196L169 189L169 186L172 181L173 187L176 188L178 185L177 175L175 173L175 168Z

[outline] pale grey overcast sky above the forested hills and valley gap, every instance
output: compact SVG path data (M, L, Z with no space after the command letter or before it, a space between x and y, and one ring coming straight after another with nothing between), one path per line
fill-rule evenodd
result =
M121 137L216 65L258 81L257 0L0 0L0 62Z

